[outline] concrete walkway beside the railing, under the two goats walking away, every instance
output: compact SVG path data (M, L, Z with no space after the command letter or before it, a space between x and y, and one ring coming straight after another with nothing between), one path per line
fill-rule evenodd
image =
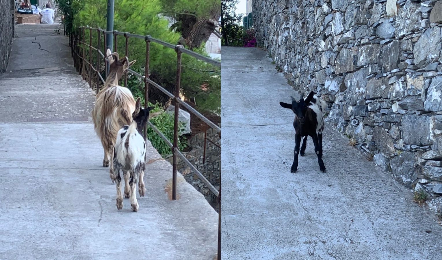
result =
M168 199L172 167L149 142L140 209L117 210L95 96L54 29L17 26L0 75L0 259L213 260L217 213L181 175Z

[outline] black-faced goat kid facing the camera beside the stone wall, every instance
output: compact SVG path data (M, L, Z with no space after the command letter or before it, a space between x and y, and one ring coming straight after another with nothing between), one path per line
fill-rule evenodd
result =
M289 108L295 113L293 127L296 131L295 143L295 157L293 159L292 168L290 172L296 172L298 167L298 153L299 145L301 144L301 137L303 137L301 156L304 156L305 146L307 145L307 136L311 136L313 144L315 145L315 153L318 157L319 168L325 172L324 161L322 161L322 132L324 130L324 119L322 118L322 111L327 107L327 104L320 100L313 92L310 92L306 99L296 101L293 96L292 103L279 102L281 107Z

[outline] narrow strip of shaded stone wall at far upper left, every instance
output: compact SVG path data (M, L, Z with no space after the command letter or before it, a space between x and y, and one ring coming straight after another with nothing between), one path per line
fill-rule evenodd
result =
M12 38L14 37L14 1L0 0L0 73L8 67L9 54L11 52Z

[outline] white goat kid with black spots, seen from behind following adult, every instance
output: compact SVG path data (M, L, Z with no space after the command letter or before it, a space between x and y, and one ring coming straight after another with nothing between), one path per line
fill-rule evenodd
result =
M118 131L117 141L114 148L114 168L110 169L113 174L115 184L117 185L117 209L123 208L123 196L121 193L120 170L123 171L125 181L124 195L130 197L132 210L138 211L138 202L136 195L136 185L138 180L138 193L144 197L144 170L146 143L143 138L142 130L149 120L149 111L154 107L141 108L140 98L135 104L135 111L132 114L132 122ZM152 117L152 116L151 116Z

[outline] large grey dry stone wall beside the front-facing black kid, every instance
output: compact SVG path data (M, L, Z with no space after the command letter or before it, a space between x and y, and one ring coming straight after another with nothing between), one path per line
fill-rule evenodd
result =
M442 205L442 0L256 0L280 71L328 102L328 123Z

